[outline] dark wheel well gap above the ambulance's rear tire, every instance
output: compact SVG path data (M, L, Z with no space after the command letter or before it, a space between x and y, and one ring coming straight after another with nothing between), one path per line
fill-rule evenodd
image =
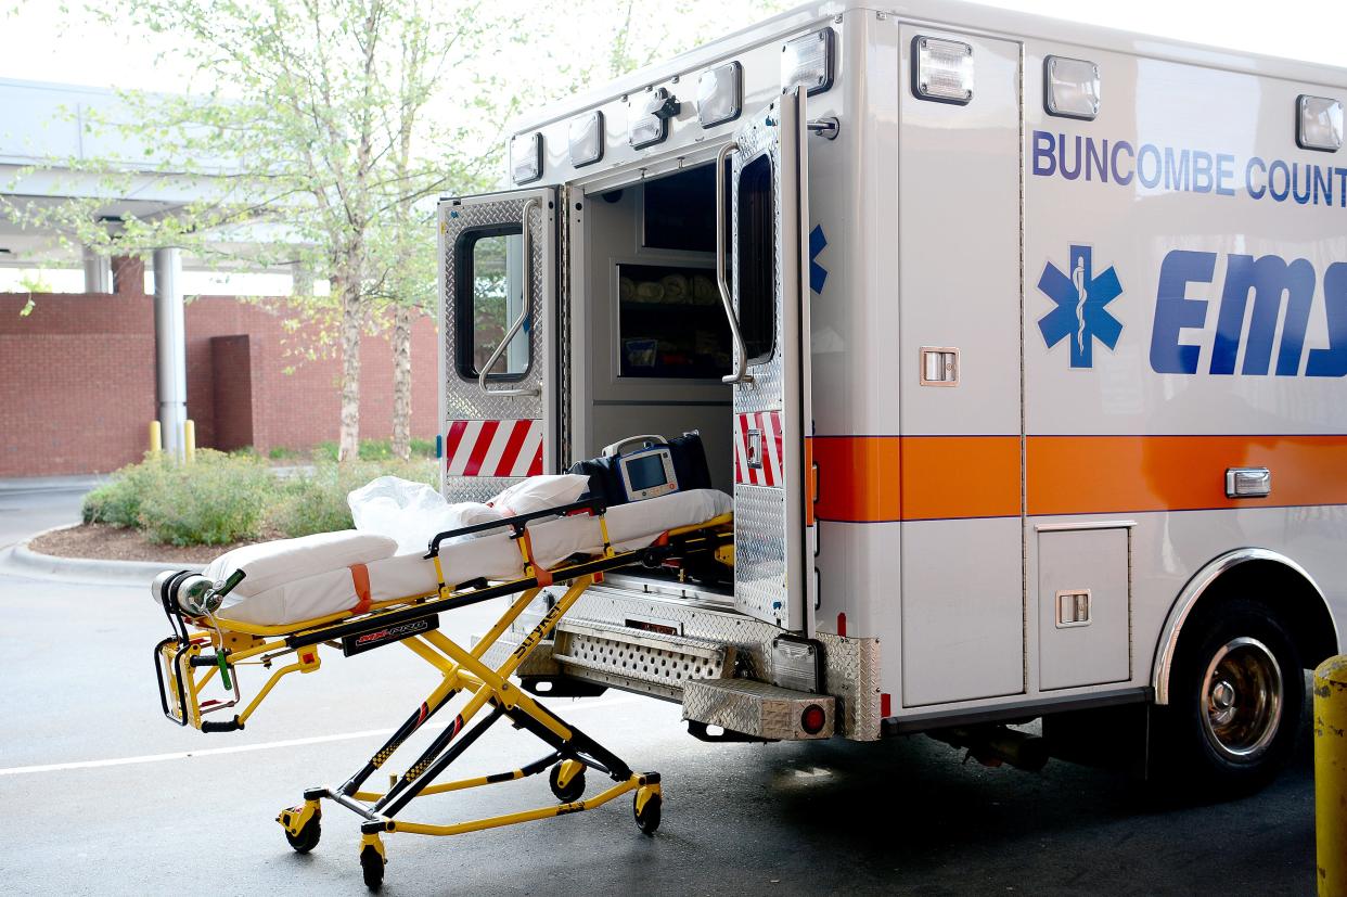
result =
M1179 632L1200 632L1203 620L1237 598L1254 601L1286 626L1305 669L1338 653L1334 621L1323 595L1300 571L1266 559L1246 560L1218 576L1197 598Z

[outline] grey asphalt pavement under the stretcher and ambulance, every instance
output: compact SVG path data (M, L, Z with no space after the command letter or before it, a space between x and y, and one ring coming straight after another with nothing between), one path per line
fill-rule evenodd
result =
M73 523L78 494L0 493L0 545ZM0 551L3 555L3 551ZM442 617L466 641L492 605ZM248 730L205 735L159 712L167 634L144 585L32 579L0 556L0 882L12 893L365 893L356 816L325 805L292 853L276 812L335 784L436 680L397 646L291 676ZM244 680L256 687L257 677ZM1052 761L986 769L942 743L704 745L674 704L621 692L550 700L632 766L663 774L663 826L629 799L462 835L385 836L387 894L1312 894L1309 739L1265 792L1156 808L1121 774ZM447 714L442 714L447 721ZM423 731L423 743L434 731ZM463 774L546 753L498 726ZM373 787L374 783L372 783ZM589 792L602 783L590 773ZM412 804L454 822L551 801L541 777Z

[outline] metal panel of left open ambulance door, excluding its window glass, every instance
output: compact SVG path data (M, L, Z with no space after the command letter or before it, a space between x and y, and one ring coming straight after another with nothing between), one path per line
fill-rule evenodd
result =
M470 290L466 253L474 233L521 233L524 210L528 209L529 283L532 308L520 331L511 342L528 345L528 366L519 380L488 381L484 391L475 377L459 370L458 353L461 333L459 310L471 308L461 291ZM446 475L442 492L453 501L485 500L504 486L517 482L521 475L554 473L556 458L556 408L552 380L555 308L556 308L556 191L554 187L516 190L445 199L439 205L440 256L440 435L445 438ZM471 322L467 322L469 325ZM527 395L500 395L511 389ZM519 426L517 443L511 435ZM455 434L454 424L458 423ZM453 465L451 435L466 442L461 446L465 457L471 457L465 473L459 459ZM540 447L537 444L540 436ZM473 440L478 442L474 443ZM531 440L531 442L529 442ZM519 455L521 450L527 455ZM475 450L475 451L474 451ZM515 454L511 454L511 453ZM513 461L513 463L512 463Z

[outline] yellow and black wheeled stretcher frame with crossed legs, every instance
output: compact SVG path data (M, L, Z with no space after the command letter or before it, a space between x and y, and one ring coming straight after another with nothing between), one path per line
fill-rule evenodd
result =
M723 501L692 502L683 513L684 520L691 512L696 512L694 516L704 516L707 508L721 513L686 520L682 525L653 535L636 532L640 529L640 520L659 519L648 508L640 509L643 513L626 512L629 529L634 528L633 531L610 532L609 521L613 514L599 500L585 500L442 532L430 540L423 558L414 558L423 567L434 570L435 582L431 587L400 598L373 599L366 595L352 607L310 620L261 624L230 617L232 611L248 616L248 602L225 603L245 579L242 570L228 580L213 583L187 571L164 574L155 582L155 597L168 617L172 634L160 641L154 652L163 712L176 725L206 733L240 730L282 679L292 673L317 672L322 664L322 651L337 649L343 656L352 656L401 644L440 673L439 684L345 783L310 788L303 792L303 803L280 812L276 820L294 850L307 853L318 844L325 800L361 819L360 865L365 884L372 889L383 882L387 854L381 836L391 832L458 835L594 809L634 792L636 824L643 832L653 834L660 824L663 803L659 773L633 772L594 738L512 683L511 675L548 637L585 590L602 580L605 572L630 564L678 566L717 552L725 556L733 541L733 519L727 513L729 497L719 497ZM655 501L659 500L652 500L649 505ZM687 500L683 502L687 505ZM630 505L612 510L624 508ZM548 527L554 536L554 554L564 550L556 545L567 544L566 539L558 541L558 535L575 533L571 541L585 543L597 533L597 544L590 545L589 551L568 552L555 563L543 563L533 536ZM649 528L649 523L645 527ZM457 541L471 536L480 539ZM512 543L519 559L517 576L490 580L478 572L480 567L469 562L474 558L490 558L488 540L493 536ZM450 550L461 545L466 547L459 551L462 563L447 563ZM480 545L488 547L484 550ZM564 593L504 663L494 668L484 663L486 652L550 586L564 586ZM470 649L439 630L440 613L501 597L513 597L513 602ZM271 673L245 703L240 671L259 667ZM453 722L431 739L404 772L391 777L387 791L368 791L365 783L369 777L459 695L463 696L463 703ZM513 723L516 730L536 737L548 752L517 769L436 784L473 742L501 718ZM587 769L607 776L614 784L593 797L582 799ZM559 801L555 805L453 824L408 822L401 816L403 809L418 797L516 781L544 772L548 773L548 785Z

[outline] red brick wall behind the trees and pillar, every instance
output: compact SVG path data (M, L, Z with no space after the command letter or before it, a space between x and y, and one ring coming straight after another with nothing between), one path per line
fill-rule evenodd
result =
M137 461L156 411L154 299L51 294L20 318L27 299L0 294L0 477L102 473ZM187 415L197 443L238 447L249 418L251 444L264 454L335 440L341 362L322 330L284 300L189 302ZM244 335L245 346L216 339ZM427 439L436 428L435 353L435 325L422 318L412 331L412 435ZM361 362L361 438L387 439L388 338L366 335Z

